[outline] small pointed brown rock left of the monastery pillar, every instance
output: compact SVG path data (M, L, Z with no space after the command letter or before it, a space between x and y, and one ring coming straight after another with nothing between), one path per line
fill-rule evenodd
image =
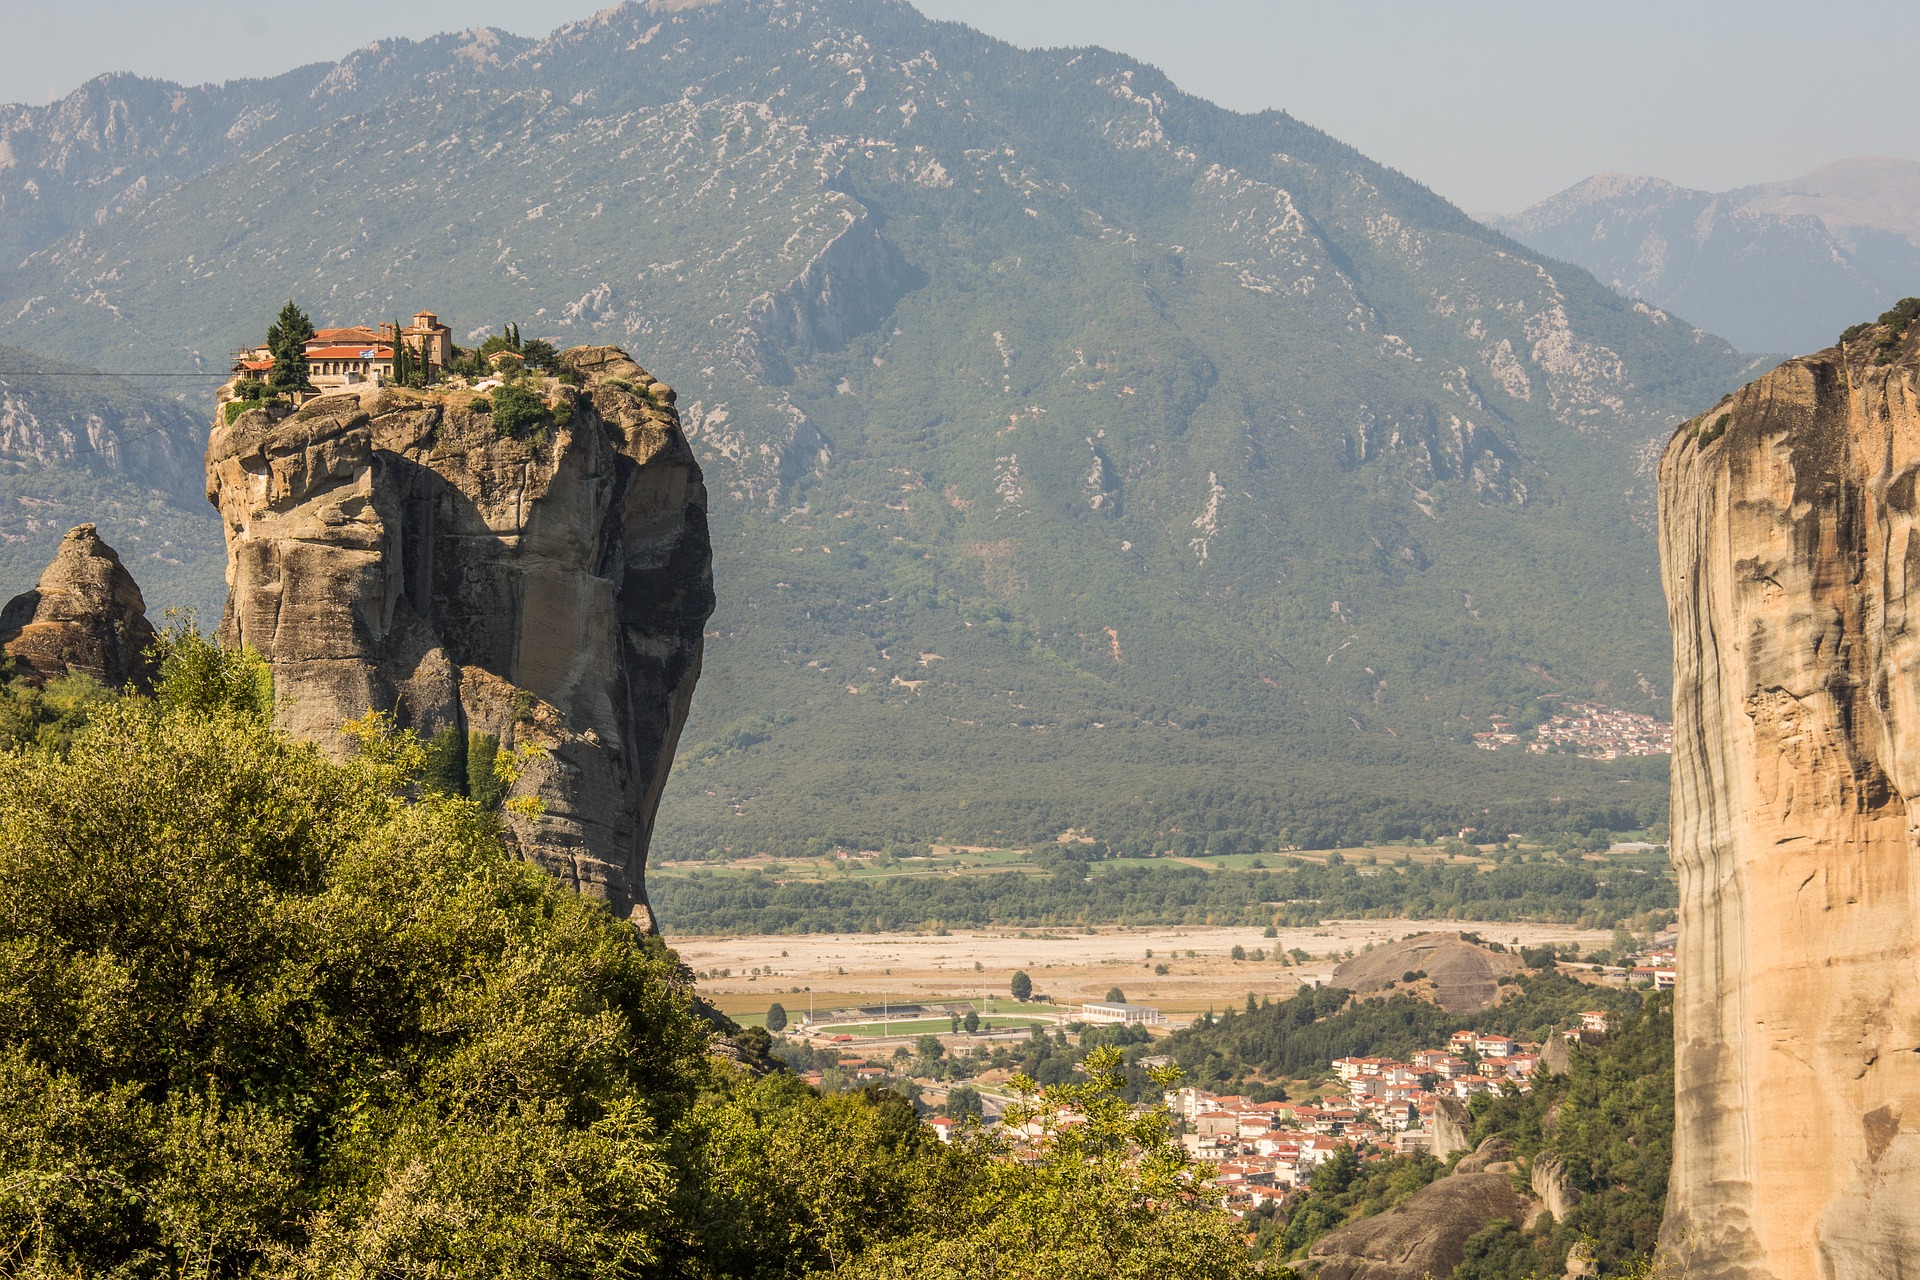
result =
M67 530L40 583L0 610L0 649L36 685L79 672L140 687L152 643L140 587L90 524Z

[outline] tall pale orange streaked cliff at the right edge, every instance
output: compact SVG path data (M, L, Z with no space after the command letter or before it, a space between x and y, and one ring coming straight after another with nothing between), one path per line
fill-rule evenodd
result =
M1916 342L1788 361L1661 459L1690 1276L1920 1274Z

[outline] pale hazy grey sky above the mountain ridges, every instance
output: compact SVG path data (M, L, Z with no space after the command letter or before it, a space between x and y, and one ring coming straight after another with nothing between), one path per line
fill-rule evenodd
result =
M520 35L603 0L0 0L0 102L102 71L273 75L380 36ZM1722 190L1845 155L1920 159L1920 4L1860 0L922 0L1027 46L1104 44L1236 109L1283 107L1471 211L1590 173Z

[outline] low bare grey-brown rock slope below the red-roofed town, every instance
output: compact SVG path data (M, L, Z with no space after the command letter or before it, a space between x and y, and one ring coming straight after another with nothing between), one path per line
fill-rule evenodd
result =
M1467 1238L1498 1219L1515 1226L1534 1203L1513 1190L1505 1144L1488 1138L1457 1171L1371 1219L1348 1222L1308 1249L1317 1280L1428 1280L1467 1255Z

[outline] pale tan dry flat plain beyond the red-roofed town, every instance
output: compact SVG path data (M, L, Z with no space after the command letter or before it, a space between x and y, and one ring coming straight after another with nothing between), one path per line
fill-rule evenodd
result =
M733 1017L764 1013L780 1002L789 1015L808 1007L900 1004L922 1000L995 998L995 1011L1012 1011L1008 981L1016 969L1035 992L1068 1004L1102 1000L1119 986L1127 1000L1152 1004L1173 1017L1223 1007L1256 996L1290 996L1302 983L1325 983L1350 950L1417 933L1478 933L1490 942L1538 946L1578 942L1605 946L1613 935L1572 925L1494 925L1475 921L1365 919L1327 921L1309 929L1281 929L1277 938L1258 927L1106 927L1092 933L956 931L948 936L916 933L668 936L680 960L703 977L701 994ZM1233 948L1250 960L1233 960ZM1277 952L1302 950L1308 961L1283 963ZM1148 952L1152 952L1148 956ZM1265 960L1252 960L1265 952ZM1165 965L1167 973L1156 973ZM760 969L758 975L753 969Z

